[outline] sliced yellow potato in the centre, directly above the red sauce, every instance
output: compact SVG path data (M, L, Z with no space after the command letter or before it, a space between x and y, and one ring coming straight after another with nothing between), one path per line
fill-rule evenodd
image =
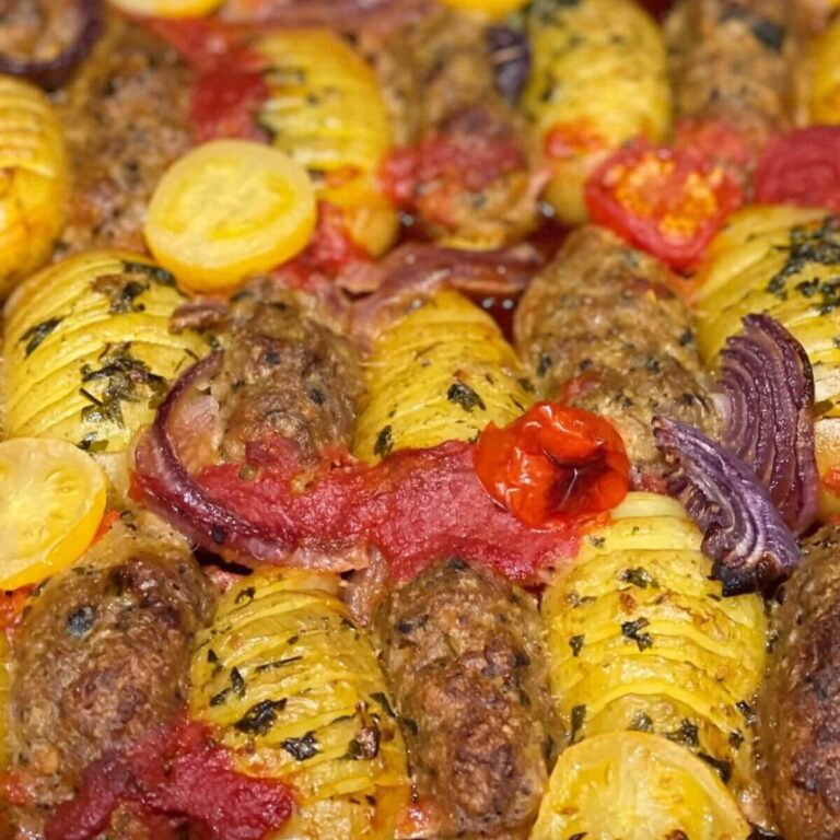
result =
M469 441L492 420L506 425L530 405L513 348L492 318L443 290L377 338L354 454Z

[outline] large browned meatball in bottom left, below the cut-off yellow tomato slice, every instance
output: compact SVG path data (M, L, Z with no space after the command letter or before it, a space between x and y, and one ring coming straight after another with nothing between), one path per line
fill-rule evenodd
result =
M118 525L33 595L12 645L12 770L37 831L81 771L177 714L213 590L186 548Z

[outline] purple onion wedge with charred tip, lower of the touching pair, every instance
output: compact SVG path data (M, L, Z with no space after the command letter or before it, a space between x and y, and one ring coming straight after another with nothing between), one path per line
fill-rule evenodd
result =
M702 529L702 548L723 594L772 592L800 552L752 469L693 427L657 417L653 433L672 468L668 492Z

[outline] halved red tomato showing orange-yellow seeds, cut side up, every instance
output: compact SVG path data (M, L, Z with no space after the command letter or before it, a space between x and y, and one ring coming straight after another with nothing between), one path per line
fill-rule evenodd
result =
M593 221L676 269L697 262L740 202L740 186L722 164L642 141L608 158L586 183Z

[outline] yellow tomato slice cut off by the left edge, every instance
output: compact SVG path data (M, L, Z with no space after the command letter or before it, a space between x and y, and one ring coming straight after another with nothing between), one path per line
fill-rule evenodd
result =
M90 545L105 512L102 467L72 443L0 443L0 590L39 583Z

